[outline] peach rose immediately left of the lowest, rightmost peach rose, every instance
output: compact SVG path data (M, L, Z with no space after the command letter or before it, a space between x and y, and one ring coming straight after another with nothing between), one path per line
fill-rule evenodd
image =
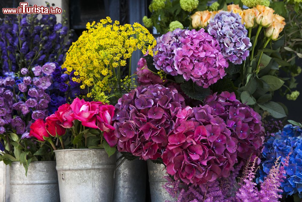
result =
M256 22L258 25L268 27L274 19L274 10L264 5L257 5Z

